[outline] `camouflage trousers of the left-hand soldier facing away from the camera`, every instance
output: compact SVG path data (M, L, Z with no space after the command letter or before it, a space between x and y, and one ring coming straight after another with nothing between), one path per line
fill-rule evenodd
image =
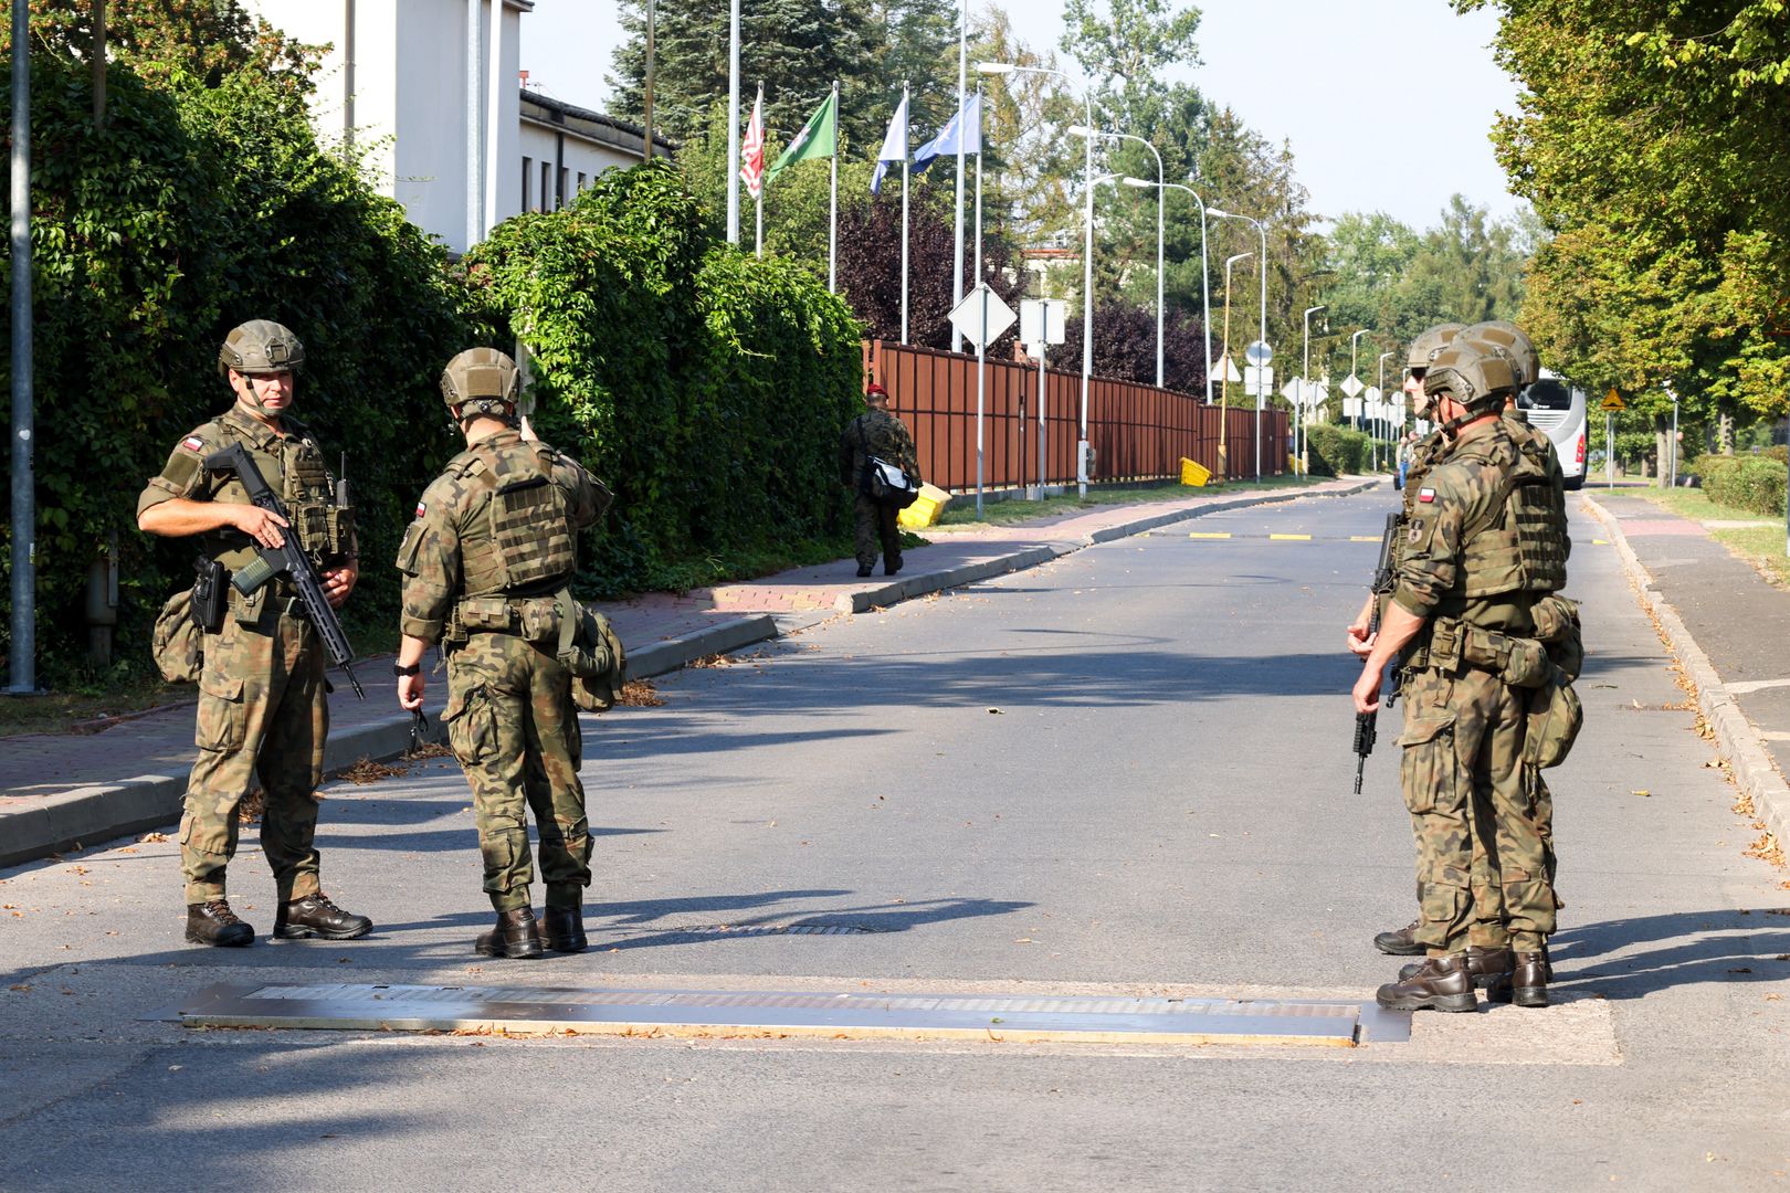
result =
M528 907L535 871L528 812L541 837L550 907L578 907L591 885L584 816L584 735L571 673L510 633L474 633L448 655L448 744L473 787L485 893L499 912Z

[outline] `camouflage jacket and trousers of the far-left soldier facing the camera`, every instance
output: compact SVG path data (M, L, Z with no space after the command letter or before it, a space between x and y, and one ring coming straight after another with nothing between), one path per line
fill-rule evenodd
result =
M281 415L281 426L276 431L231 406L175 444L138 497L138 515L174 497L247 504L234 474L204 470L206 456L242 444L285 501L311 560L319 569L338 565L353 551L353 515L333 506L333 478L317 442L292 415ZM229 571L256 554L254 542L231 526L197 538L200 553ZM329 733L326 664L286 581L270 581L251 597L229 588L229 612L218 633L204 639L199 676L199 760L181 817L188 903L224 898L224 871L236 855L236 808L256 776L267 792L261 851L279 901L317 894L317 783Z

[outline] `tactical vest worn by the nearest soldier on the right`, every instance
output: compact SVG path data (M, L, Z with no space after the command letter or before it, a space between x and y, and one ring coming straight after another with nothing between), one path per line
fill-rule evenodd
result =
M1534 444L1518 442L1502 427L1487 440L1470 451L1480 449L1489 453L1487 460L1507 465L1486 513L1462 535L1462 596L1559 592L1566 587L1572 551L1564 495Z

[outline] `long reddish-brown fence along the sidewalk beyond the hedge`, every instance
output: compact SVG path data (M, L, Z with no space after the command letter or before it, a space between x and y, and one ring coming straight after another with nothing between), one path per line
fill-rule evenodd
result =
M976 488L976 358L958 352L865 342L865 374L890 392L891 408L913 431L920 472L952 492ZM1133 381L1094 377L1088 385L1088 442L1095 481L1147 481L1181 474L1181 458L1219 476L1219 424L1230 461L1226 479L1255 476L1255 399L1246 410L1206 406L1198 397ZM983 393L983 485L1038 483L1038 367L990 360ZM1081 372L1045 370L1044 483L1076 481ZM1287 467L1287 415L1262 411L1262 474Z

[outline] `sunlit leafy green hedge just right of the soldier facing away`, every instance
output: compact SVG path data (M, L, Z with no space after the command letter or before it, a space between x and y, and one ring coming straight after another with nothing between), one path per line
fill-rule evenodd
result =
M834 447L863 408L863 329L813 272L711 227L678 172L652 163L467 254L482 317L530 349L542 438L616 492L585 592L850 553Z

